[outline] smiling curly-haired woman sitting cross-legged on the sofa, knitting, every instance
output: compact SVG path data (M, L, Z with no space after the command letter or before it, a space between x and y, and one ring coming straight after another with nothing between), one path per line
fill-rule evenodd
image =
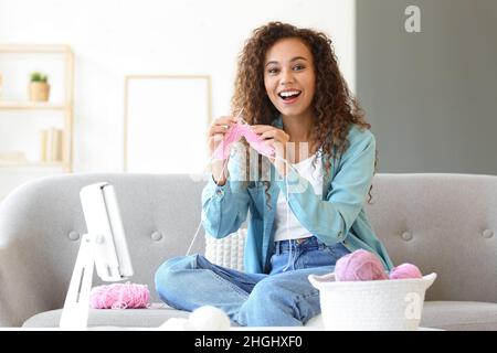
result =
M214 306L240 325L303 325L320 313L308 275L334 271L341 256L359 248L377 254L387 271L393 267L363 208L376 169L374 137L329 38L281 22L256 29L246 42L233 116L208 129L211 154L242 108L276 151L257 158L258 170L269 164L269 175L257 171L247 179L247 153L231 153L228 163L213 160L202 222L221 238L236 232L250 210L245 271L201 255L176 257L157 270L156 289L171 307Z

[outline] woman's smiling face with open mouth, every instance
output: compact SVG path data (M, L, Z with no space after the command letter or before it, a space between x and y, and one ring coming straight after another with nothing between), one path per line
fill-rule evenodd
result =
M316 75L313 54L302 40L283 39L267 50L264 86L271 101L284 117L311 114Z

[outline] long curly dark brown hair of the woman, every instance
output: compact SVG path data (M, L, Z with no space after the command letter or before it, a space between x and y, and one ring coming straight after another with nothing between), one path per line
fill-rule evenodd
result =
M269 100L264 86L264 61L267 51L282 39L299 39L310 50L314 60L316 90L313 99L314 126L311 146L321 147L321 162L330 171L330 159L339 157L348 147L347 135L352 125L360 129L370 129L364 113L350 93L338 68L331 40L322 32L299 29L282 22L269 22L253 31L239 55L234 94L231 100L232 115L243 108L243 117L250 125L272 125L279 111ZM246 145L246 141L244 141ZM246 146L247 147L247 146ZM245 149L248 154L248 148ZM314 163L317 161L317 154ZM258 170L262 170L262 156L258 157ZM265 157L264 157L265 158ZM248 158L246 159L248 163ZM376 151L374 172L377 171L378 150ZM246 169L248 173L248 168ZM245 180L248 180L246 178ZM266 185L266 195L269 182ZM369 201L371 201L371 189ZM268 200L268 197L267 197Z

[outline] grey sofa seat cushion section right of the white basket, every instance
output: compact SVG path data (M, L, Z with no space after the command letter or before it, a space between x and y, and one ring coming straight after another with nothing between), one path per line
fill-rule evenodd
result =
M496 331L497 303L425 301L420 325L447 331Z

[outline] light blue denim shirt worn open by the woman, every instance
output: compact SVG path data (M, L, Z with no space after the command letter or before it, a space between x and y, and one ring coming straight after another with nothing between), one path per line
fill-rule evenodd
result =
M282 117L274 126L282 128ZM236 157L230 157L229 178L219 186L210 179L202 191L202 224L205 232L222 238L236 232L247 218L244 253L245 271L268 274L274 250L275 211L279 192L288 192L288 205L300 224L326 245L342 243L350 252L366 249L377 254L384 268L393 264L378 239L364 213L366 197L374 171L376 140L368 129L352 126L349 148L332 158L331 172L322 182L322 196L316 195L310 183L294 170L287 181L271 165L271 208L266 205L265 185L243 182L245 171ZM288 185L288 188L287 188Z

